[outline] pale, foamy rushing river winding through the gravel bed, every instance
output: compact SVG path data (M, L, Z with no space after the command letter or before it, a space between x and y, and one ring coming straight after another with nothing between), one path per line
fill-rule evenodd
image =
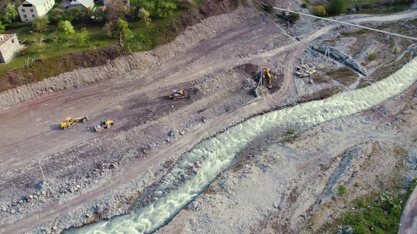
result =
M416 80L417 58L413 58L393 75L363 89L272 111L235 125L216 137L196 144L182 156L182 161L199 160L201 166L196 175L177 190L131 214L76 228L69 233L152 233L203 192L219 173L230 166L235 154L257 135L279 125L309 127L369 109L397 96Z

